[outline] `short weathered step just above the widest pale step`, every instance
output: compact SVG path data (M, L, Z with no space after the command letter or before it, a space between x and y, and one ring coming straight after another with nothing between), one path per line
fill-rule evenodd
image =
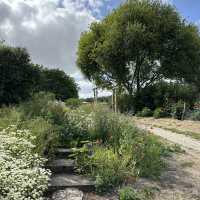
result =
M56 159L47 163L47 168L53 173L74 173L74 160Z

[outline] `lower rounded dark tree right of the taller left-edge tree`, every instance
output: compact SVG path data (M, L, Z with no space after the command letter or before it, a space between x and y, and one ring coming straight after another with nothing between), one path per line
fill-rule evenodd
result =
M74 79L59 69L41 69L40 90L52 92L56 99L78 98L78 86Z

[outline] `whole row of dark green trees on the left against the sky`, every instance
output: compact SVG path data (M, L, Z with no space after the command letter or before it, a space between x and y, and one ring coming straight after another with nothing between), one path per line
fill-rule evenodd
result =
M0 45L0 76L0 105L19 103L39 91L52 92L59 100L78 97L73 78L33 64L24 48Z

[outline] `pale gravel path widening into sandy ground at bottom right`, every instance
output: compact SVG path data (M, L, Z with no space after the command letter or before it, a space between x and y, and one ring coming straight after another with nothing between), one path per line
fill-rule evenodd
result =
M141 179L138 186L158 188L154 200L200 200L200 141L150 125L138 127L179 144L186 151L166 160L168 167L160 180Z

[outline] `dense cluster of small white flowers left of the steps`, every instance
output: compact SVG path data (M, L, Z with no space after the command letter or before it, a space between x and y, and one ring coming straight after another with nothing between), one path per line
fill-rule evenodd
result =
M0 131L0 199L41 200L50 172L34 153L30 131L10 126Z

